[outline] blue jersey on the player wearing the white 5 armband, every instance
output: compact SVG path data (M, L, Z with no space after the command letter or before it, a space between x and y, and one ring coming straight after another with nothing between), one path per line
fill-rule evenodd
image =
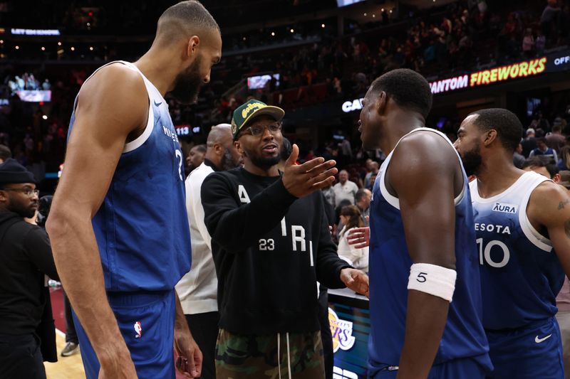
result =
M434 129L418 128L410 133L427 132L439 134L450 144L450 149L454 149L449 139ZM434 154L437 152L434 151ZM395 369L400 361L408 304L408 277L413 264L405 242L399 200L390 195L385 186L385 173L392 155L393 151L380 167L370 205L371 334L368 353L371 376L379 371ZM482 304L475 228L465 171L463 181L465 184L462 193L455 199L455 293L434 365L458 358L472 358L484 370L489 370L492 365L481 323Z

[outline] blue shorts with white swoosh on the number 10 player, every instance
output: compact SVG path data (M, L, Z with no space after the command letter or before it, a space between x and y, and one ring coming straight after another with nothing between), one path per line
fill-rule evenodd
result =
M487 378L564 379L562 343L554 317L512 331L487 331L494 370Z

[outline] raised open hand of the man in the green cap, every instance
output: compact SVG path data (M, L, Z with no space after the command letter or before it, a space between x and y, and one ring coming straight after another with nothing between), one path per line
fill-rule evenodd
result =
M291 195L302 198L333 183L334 176L338 171L334 167L336 161L325 162L323 158L318 157L295 166L298 157L299 146L294 144L281 178L283 185Z

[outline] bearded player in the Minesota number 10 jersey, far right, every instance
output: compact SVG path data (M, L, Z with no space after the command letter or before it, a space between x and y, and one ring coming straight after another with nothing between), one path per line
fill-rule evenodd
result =
M564 378L556 294L570 274L570 196L512 161L517 116L480 110L462 122L455 146L477 175L471 196L479 250L490 378Z

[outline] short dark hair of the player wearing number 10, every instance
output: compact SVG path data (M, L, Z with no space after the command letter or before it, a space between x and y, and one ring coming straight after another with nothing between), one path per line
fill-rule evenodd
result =
M472 112L471 115L477 115L473 123L480 130L483 132L490 129L496 130L497 136L505 148L510 151L517 149L519 142L521 142L522 124L513 112L503 108L489 108Z

